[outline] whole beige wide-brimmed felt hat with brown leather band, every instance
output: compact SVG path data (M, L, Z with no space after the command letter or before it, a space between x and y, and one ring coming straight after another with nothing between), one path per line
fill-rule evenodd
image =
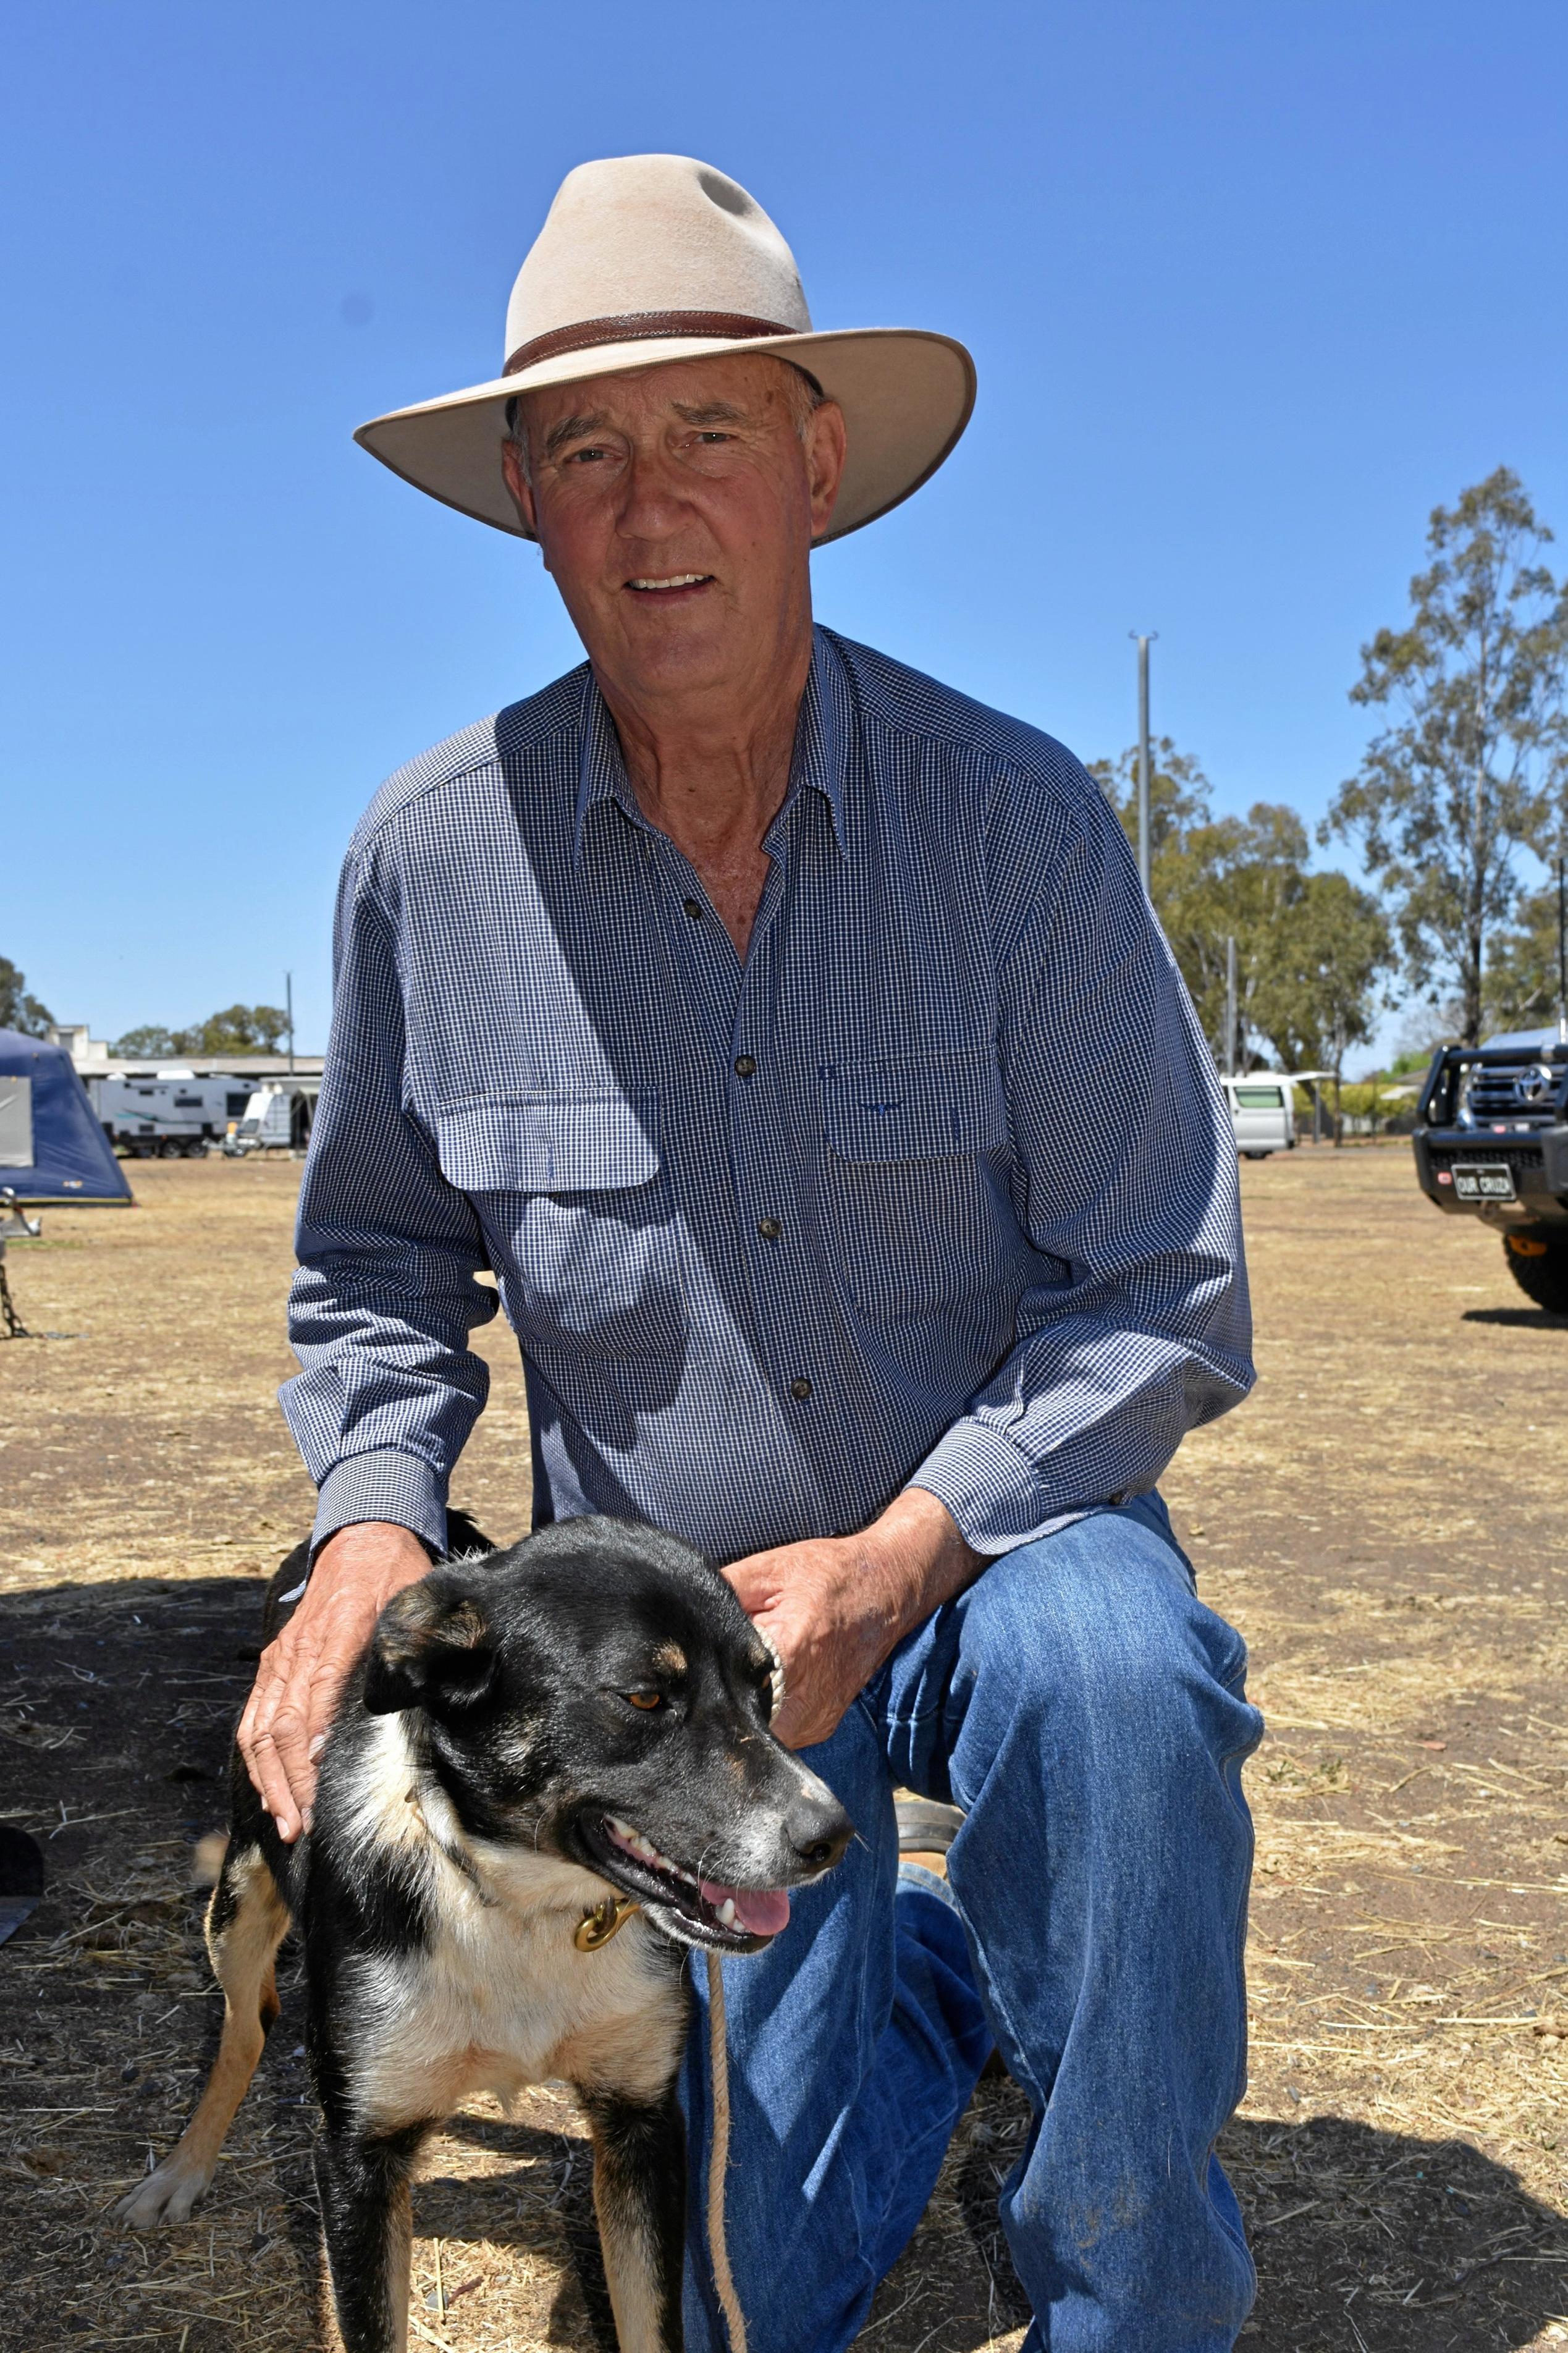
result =
M690 155L614 155L560 184L511 289L501 374L353 438L445 506L530 539L501 478L518 393L744 351L791 360L843 409L824 541L918 489L975 407L975 362L949 334L812 327L789 245L737 181Z

